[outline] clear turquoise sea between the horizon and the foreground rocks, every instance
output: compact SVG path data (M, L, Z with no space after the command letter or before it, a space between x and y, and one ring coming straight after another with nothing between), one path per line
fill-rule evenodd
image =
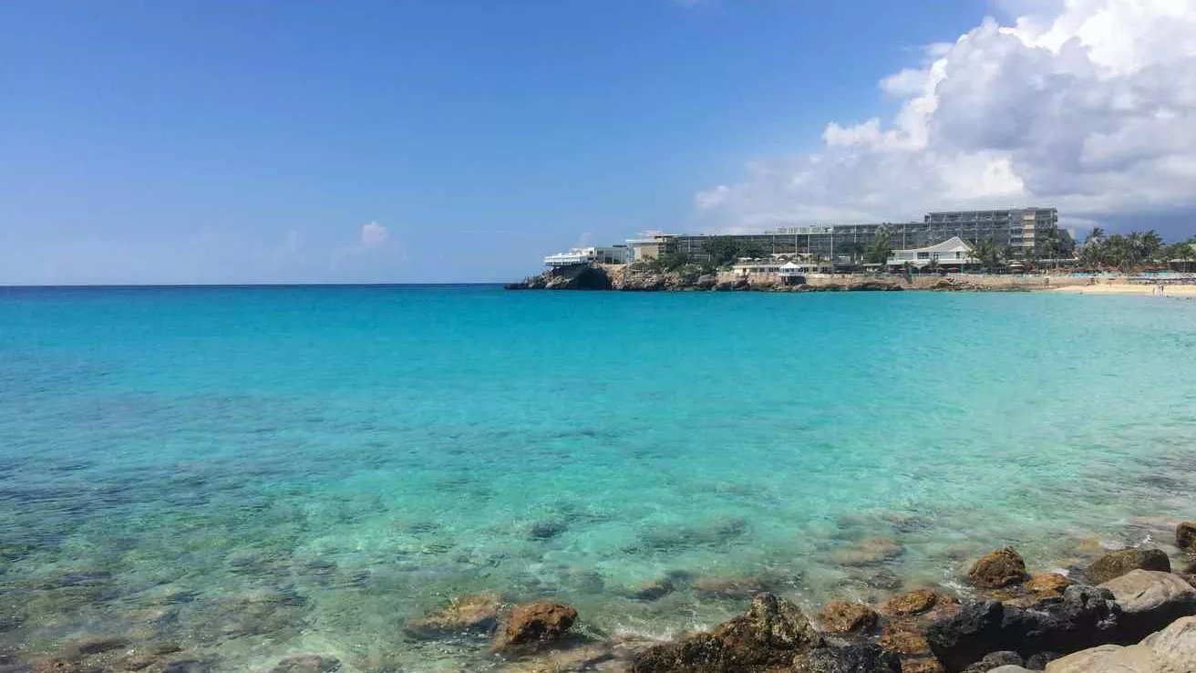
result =
M1196 510L1194 381L1164 298L0 290L0 644L478 669L402 625L498 590L667 636L727 580L1066 565Z

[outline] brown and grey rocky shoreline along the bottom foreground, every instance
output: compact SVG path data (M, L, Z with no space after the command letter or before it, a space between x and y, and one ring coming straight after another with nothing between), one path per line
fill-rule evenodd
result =
M734 593L749 601L742 614L667 642L602 632L561 600L512 605L480 593L408 622L396 638L474 651L477 663L454 673L1196 673L1196 522L1178 523L1173 552L1128 547L1030 574L1003 547L972 560L958 590L927 586L875 604L832 601L811 614L775 589L746 586ZM664 598L670 582L641 587L636 600ZM124 633L42 656L0 650L0 673L225 669L209 653ZM360 668L300 653L254 671L350 669Z

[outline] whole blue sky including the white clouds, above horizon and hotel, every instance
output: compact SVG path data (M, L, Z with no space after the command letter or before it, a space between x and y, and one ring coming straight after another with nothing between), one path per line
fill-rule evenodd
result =
M1196 0L0 2L0 284L1019 206L1196 234Z

